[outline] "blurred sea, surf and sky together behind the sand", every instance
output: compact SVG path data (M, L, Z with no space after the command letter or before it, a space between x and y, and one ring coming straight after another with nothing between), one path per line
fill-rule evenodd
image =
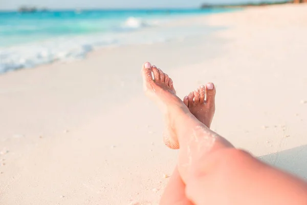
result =
M163 25L187 16L279 3L287 1L1 0L0 73L84 58L98 47L165 42L208 32L204 26ZM149 27L160 29L137 32Z

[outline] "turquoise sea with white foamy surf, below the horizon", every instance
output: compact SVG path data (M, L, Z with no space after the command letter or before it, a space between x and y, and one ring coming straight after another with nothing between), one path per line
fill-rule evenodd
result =
M204 28L141 32L180 18L230 9L0 11L0 73L83 58L97 47L155 43ZM181 36L180 36L180 35Z

